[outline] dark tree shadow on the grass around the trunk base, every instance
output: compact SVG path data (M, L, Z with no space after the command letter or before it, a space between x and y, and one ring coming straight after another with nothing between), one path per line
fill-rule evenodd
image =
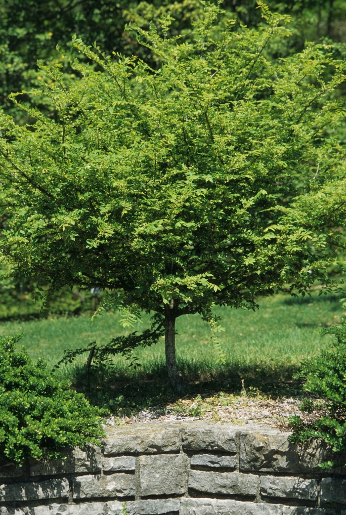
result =
M220 391L240 393L241 380L245 387L270 394L272 397L295 396L301 392L299 382L293 380L298 365L268 362L228 364L218 368L209 364L180 361L179 370L184 384L184 398L214 396ZM117 367L114 364L92 366L90 390L85 366L76 365L72 385L85 394L92 404L108 408L114 415L138 413L149 407L163 407L176 402L163 362L150 363L150 369Z

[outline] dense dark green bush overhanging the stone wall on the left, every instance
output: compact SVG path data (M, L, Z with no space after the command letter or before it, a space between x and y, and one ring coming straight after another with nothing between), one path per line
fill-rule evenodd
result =
M53 458L68 445L99 444L103 411L69 389L43 359L15 350L21 336L0 338L0 454L21 463Z

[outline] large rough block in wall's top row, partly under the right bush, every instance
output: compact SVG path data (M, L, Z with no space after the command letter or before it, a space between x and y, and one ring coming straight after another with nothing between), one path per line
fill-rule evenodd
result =
M288 441L289 434L267 430L242 430L239 470L322 473L323 470L318 464L332 459L331 451L320 442L298 449L296 444Z

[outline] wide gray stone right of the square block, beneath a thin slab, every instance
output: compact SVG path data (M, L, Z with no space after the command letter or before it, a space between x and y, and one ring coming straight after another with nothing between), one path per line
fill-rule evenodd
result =
M188 487L205 493L257 495L259 477L254 474L239 474L238 472L191 470L188 477Z

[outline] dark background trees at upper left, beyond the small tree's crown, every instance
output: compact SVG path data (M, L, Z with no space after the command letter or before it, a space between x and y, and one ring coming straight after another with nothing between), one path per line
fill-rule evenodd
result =
M170 2L125 2L124 0L0 0L0 105L21 119L8 99L11 92L40 88L37 60L60 61L67 65L56 46L71 46L74 34L86 44L95 41L107 51L129 55L136 48L135 38L124 35L124 26L136 15L159 20L162 15L175 16L173 32L191 28L191 17L200 11L197 0ZM150 14L149 14L150 13ZM66 66L66 79L71 70ZM34 98L31 97L31 100ZM43 106L41 105L41 108Z

